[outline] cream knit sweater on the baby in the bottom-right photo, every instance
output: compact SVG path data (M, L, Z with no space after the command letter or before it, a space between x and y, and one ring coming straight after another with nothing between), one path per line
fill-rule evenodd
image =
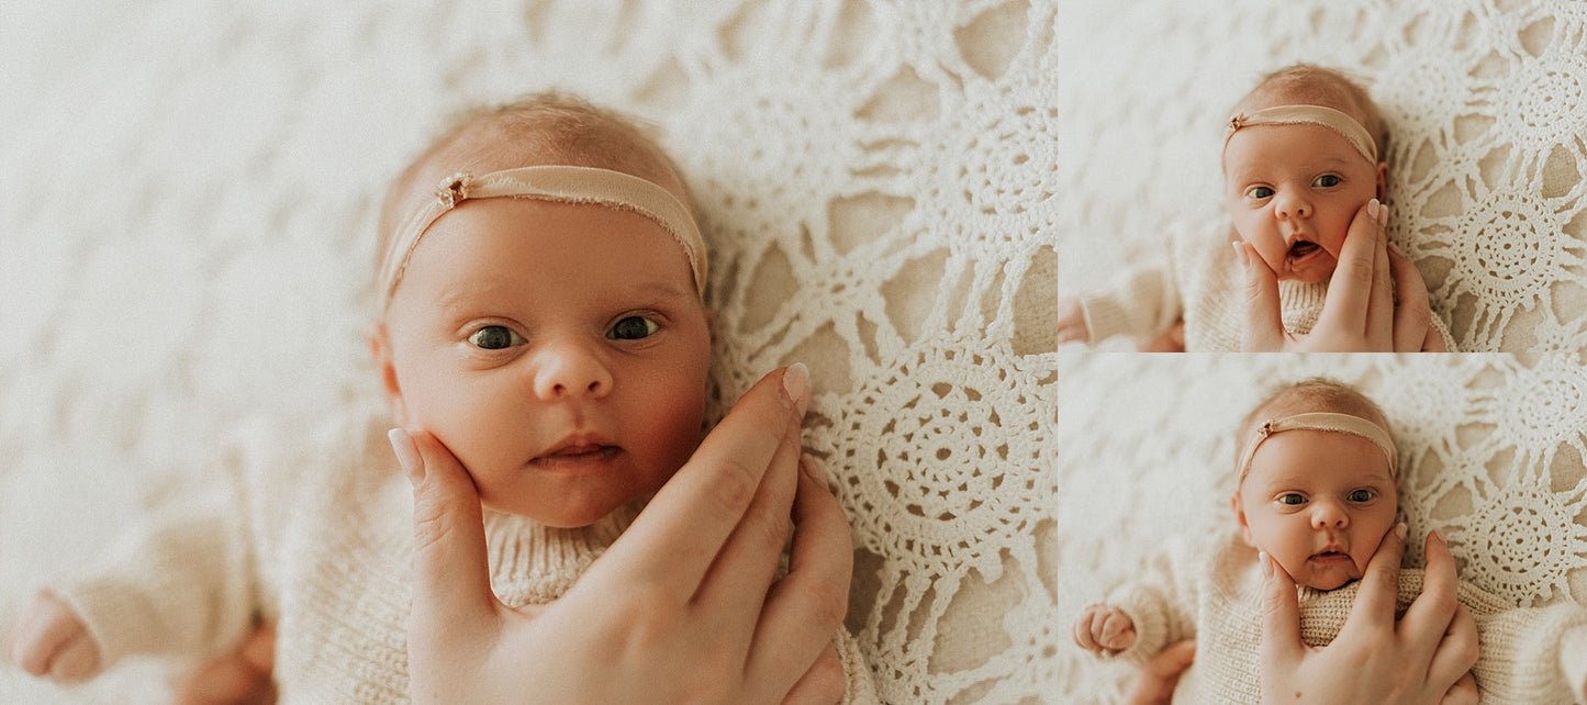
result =
M1339 634L1360 583L1335 591L1298 588L1301 638L1322 646ZM1422 570L1400 572L1403 610L1422 592ZM1460 603L1477 622L1471 668L1484 703L1571 703L1587 678L1587 610L1574 603L1517 608L1468 583ZM1114 657L1143 662L1197 640L1195 664L1174 702L1260 702L1262 573L1257 553L1230 532L1217 541L1159 556L1138 581L1108 594L1135 621L1136 641ZM1574 684L1574 686L1573 686Z

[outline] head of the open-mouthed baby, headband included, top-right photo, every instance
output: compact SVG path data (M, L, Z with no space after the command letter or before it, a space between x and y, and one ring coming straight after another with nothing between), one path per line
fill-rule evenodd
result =
M1224 143L1224 203L1279 279L1327 281L1351 219L1384 200L1389 164L1378 106L1346 75L1298 64L1235 106Z

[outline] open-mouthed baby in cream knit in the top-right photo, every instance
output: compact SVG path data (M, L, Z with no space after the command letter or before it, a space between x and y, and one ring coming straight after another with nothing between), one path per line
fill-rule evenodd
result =
M1293 65L1263 78L1224 135L1224 202L1233 224L1171 238L1163 267L1128 272L1112 289L1059 302L1059 341L1139 341L1184 324L1184 349L1239 351L1249 243L1279 279L1284 329L1306 333L1357 211L1387 222L1384 127L1365 89L1344 75ZM1435 335L1436 332L1436 335ZM1436 338L1436 340L1435 340ZM1454 351L1433 316L1424 349Z

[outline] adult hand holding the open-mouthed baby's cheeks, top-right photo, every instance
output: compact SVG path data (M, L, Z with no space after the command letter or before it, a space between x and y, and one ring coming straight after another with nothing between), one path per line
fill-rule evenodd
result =
M1236 241L1246 272L1246 352L1416 352L1441 338L1430 330L1427 283L1398 249L1389 246L1389 206L1366 202L1344 235L1317 324L1306 335L1284 330L1278 276L1251 243ZM1398 302L1395 295L1398 294Z

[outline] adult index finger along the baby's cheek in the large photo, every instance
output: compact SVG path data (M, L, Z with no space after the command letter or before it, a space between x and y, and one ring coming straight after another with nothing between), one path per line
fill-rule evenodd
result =
M652 583L692 599L808 403L805 365L760 378L582 580Z

